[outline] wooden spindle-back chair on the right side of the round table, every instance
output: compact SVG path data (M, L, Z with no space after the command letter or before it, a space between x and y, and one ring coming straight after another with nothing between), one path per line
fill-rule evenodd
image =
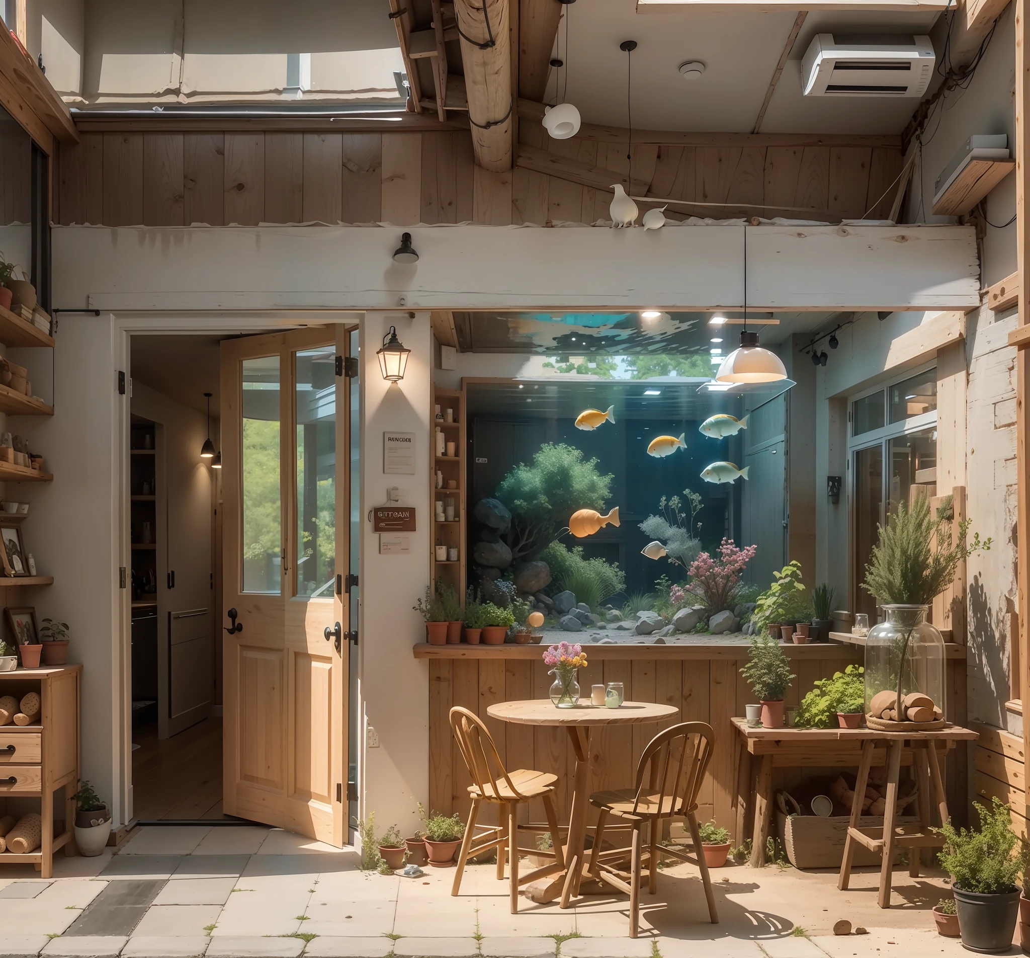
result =
M642 878L641 845L645 824L648 827L648 868L649 891L653 895L658 890L658 841L661 824L671 818L685 818L693 841L691 856L680 849L662 848L661 854L696 864L705 885L709 917L718 924L712 880L705 853L701 850L700 832L697 828L697 793L705 781L705 772L712 757L712 740L715 733L705 722L683 722L655 735L644 749L637 765L637 784L633 788L594 792L590 803L599 809L590 862L586 878L607 882L609 885L627 892L629 895L629 936L636 938L640 930L640 889ZM621 827L632 829L632 844L627 849L602 852L605 825L609 817L624 823ZM613 867L613 862L629 856L628 883L624 871ZM579 877L577 877L579 878ZM565 890L579 891L577 886Z

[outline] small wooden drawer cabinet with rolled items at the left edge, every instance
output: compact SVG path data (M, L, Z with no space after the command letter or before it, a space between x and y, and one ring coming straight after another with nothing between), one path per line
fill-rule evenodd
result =
M19 818L38 801L42 818L42 845L34 852L0 854L0 865L35 864L41 878L54 875L54 853L64 848L75 853L75 802L80 773L79 702L81 665L44 665L0 672L0 695L21 699L26 692L38 692L42 699L40 720L31 725L0 725L0 747L14 746L13 754L0 753L0 778L21 781L0 782L0 815ZM19 755L19 751L22 755ZM54 795L64 789L64 821L54 817ZM9 811L8 811L9 809ZM55 833L57 832L57 833ZM0 875L3 873L0 871Z

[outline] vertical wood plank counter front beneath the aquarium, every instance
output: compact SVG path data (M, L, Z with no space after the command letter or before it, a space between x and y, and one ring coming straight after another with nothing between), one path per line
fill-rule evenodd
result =
M788 708L797 706L817 679L829 678L850 662L861 663L863 650L836 643L782 647L797 679L787 691ZM547 698L553 677L543 661L539 645L444 645L419 643L416 658L428 660L430 670L430 805L434 812L468 816L472 784L465 762L451 738L448 714L452 706L476 713L490 729L509 768L539 768L558 775L555 800L562 822L568 822L576 756L568 733L556 727L503 722L487 714L490 706L525 698ZM754 700L739 670L748 657L748 644L740 640L689 645L584 645L589 664L579 670L582 695L590 686L622 682L627 700L673 706L677 715L657 724L597 728L590 740L592 762L590 791L629 788L644 746L661 729L680 721L708 722L715 730L714 753L701 787L698 821L714 818L735 834L734 781L740 743L730 719L744 715ZM557 711L557 710L555 710ZM813 769L805 769L811 773ZM777 768L777 788L790 787L801 771ZM540 802L520 809L523 824L544 820ZM595 812L591 812L593 824Z

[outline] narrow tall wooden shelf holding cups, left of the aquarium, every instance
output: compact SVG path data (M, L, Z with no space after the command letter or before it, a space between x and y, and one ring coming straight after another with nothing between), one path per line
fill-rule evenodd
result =
M431 499L433 508L430 512L430 578L434 582L447 583L457 590L458 597L465 604L466 583L466 502L461 494L465 486L466 471L466 430L465 430L465 391L462 389L433 390L434 406L439 406L443 415L447 410L453 410L454 422L439 422L434 419L431 424L430 441L430 486L433 490ZM455 444L457 455L437 455L436 430L444 434L445 442ZM437 488L437 472L443 474L444 487ZM456 488L448 489L448 480L457 484ZM438 522L436 519L436 504L454 500L454 519L450 522ZM457 548L457 560L437 561L436 546Z

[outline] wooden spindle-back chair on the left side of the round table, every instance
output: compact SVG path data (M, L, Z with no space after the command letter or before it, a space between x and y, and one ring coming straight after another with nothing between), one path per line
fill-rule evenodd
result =
M461 885L461 875L466 862L487 849L497 850L497 880L505 878L505 852L507 845L508 860L511 862L511 908L514 915L518 911L518 889L545 874L553 874L564 867L561 851L561 834L558 830L558 816L554 805L554 785L558 781L556 775L544 772L534 772L528 768L518 768L509 773L505 768L497 748L489 730L480 718L468 709L455 706L450 711L451 729L457 740L461 757L469 768L474 784L469 786L472 796L472 810L469 812L469 822L465 827L465 837L461 840L461 851L458 853L457 871L451 894L456 895ZM526 850L526 854L543 855L554 858L554 863L526 875L519 880L518 874L518 833L519 831L540 832L544 828L521 826L518 824L518 807L523 801L541 798L547 815L547 824L551 832L551 850ZM476 820L479 808L483 802L497 807L496 825L479 825L485 829L485 839L473 846L473 833L476 830Z

